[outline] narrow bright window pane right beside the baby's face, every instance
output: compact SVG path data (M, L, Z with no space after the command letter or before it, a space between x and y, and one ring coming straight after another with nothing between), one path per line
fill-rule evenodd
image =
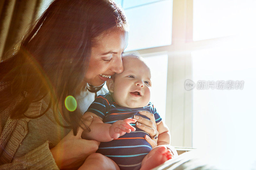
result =
M168 55L144 58L151 68L152 90L150 101L165 122Z

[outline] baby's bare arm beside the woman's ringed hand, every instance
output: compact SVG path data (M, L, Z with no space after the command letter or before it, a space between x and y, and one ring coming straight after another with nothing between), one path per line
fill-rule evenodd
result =
M157 140L157 146L158 145L163 145L163 144L170 144L171 142L171 134L166 126L166 124L161 121L156 123L157 125L157 131L158 131L158 140Z

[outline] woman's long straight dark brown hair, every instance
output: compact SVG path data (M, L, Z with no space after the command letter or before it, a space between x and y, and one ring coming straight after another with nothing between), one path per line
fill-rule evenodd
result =
M76 135L81 113L77 109L68 111L64 100L76 95L96 38L115 27L125 30L126 24L123 12L110 0L53 1L23 38L18 51L0 63L0 81L10 84L0 91L0 108L9 106L21 94L23 100L13 109L11 118L37 118L53 106L60 123L57 115L61 102L63 117ZM24 114L32 102L47 94L50 102L44 113L36 117Z

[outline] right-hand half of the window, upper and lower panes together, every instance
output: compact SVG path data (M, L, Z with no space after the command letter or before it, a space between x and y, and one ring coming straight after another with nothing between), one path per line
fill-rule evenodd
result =
M230 152L237 144L254 145L256 141L251 137L256 118L252 107L256 94L255 3L193 1L193 40L211 41L211 47L199 43L204 48L191 52L192 80L197 85L198 80L215 85L213 90L193 90L193 147L218 146ZM217 81L225 83L223 90ZM243 87L230 89L238 81Z

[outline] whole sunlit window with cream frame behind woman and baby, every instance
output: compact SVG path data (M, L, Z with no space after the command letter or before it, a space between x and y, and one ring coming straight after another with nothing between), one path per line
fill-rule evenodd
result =
M256 113L253 107L256 1L119 2L131 24L126 51L137 50L145 59L168 56L167 60L161 57L159 60L164 65L167 62L165 123L171 131L171 144L203 148L222 144L222 149L238 143L254 145L256 139L251 129L255 129L256 118L252 114ZM172 11L172 14L161 14L168 19L159 21L158 15L151 15L158 10L163 14ZM171 22L165 23L164 30L153 26L163 21ZM187 79L195 83L243 80L244 89L197 90L194 87L187 91ZM245 142L248 137L250 140Z

